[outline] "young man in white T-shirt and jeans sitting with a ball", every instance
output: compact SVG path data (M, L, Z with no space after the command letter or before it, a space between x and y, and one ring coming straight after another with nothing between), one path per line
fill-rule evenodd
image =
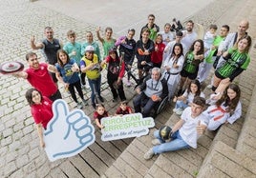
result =
M197 140L207 128L207 120L202 113L204 106L205 99L196 96L191 107L184 109L181 120L172 128L170 142L166 142L166 138L161 138L160 131L156 130L154 132L156 139L152 140L155 146L144 154L144 159L151 159L155 154L167 151L197 148Z

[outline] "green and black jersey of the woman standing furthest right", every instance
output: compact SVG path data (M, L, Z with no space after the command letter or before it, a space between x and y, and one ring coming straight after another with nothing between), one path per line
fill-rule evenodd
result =
M217 71L224 77L230 77L236 69L247 69L250 57L245 52L239 52L237 49L229 49L228 55L230 56L223 66Z

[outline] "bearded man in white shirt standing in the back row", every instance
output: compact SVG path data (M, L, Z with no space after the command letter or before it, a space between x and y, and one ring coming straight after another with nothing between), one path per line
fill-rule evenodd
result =
M184 45L184 49L190 49L193 42L198 38L198 34L193 30L193 28L194 22L189 20L186 23L186 30L182 30L183 37L181 39L181 43Z

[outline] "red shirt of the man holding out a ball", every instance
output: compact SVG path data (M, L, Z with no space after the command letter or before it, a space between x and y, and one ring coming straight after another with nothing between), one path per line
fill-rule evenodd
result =
M53 78L47 69L47 64L39 64L38 69L29 68L26 69L26 72L28 73L27 79L32 87L40 90L43 96L50 97L57 91Z

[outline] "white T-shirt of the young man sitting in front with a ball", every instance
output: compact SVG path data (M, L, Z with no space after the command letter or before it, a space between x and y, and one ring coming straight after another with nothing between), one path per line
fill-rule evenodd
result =
M190 147L197 148L197 140L200 137L200 134L197 132L199 121L204 126L207 126L208 123L202 113L195 118L193 118L191 114L190 107L184 109L181 114L181 119L184 120L184 124L179 130L183 141L185 141Z

